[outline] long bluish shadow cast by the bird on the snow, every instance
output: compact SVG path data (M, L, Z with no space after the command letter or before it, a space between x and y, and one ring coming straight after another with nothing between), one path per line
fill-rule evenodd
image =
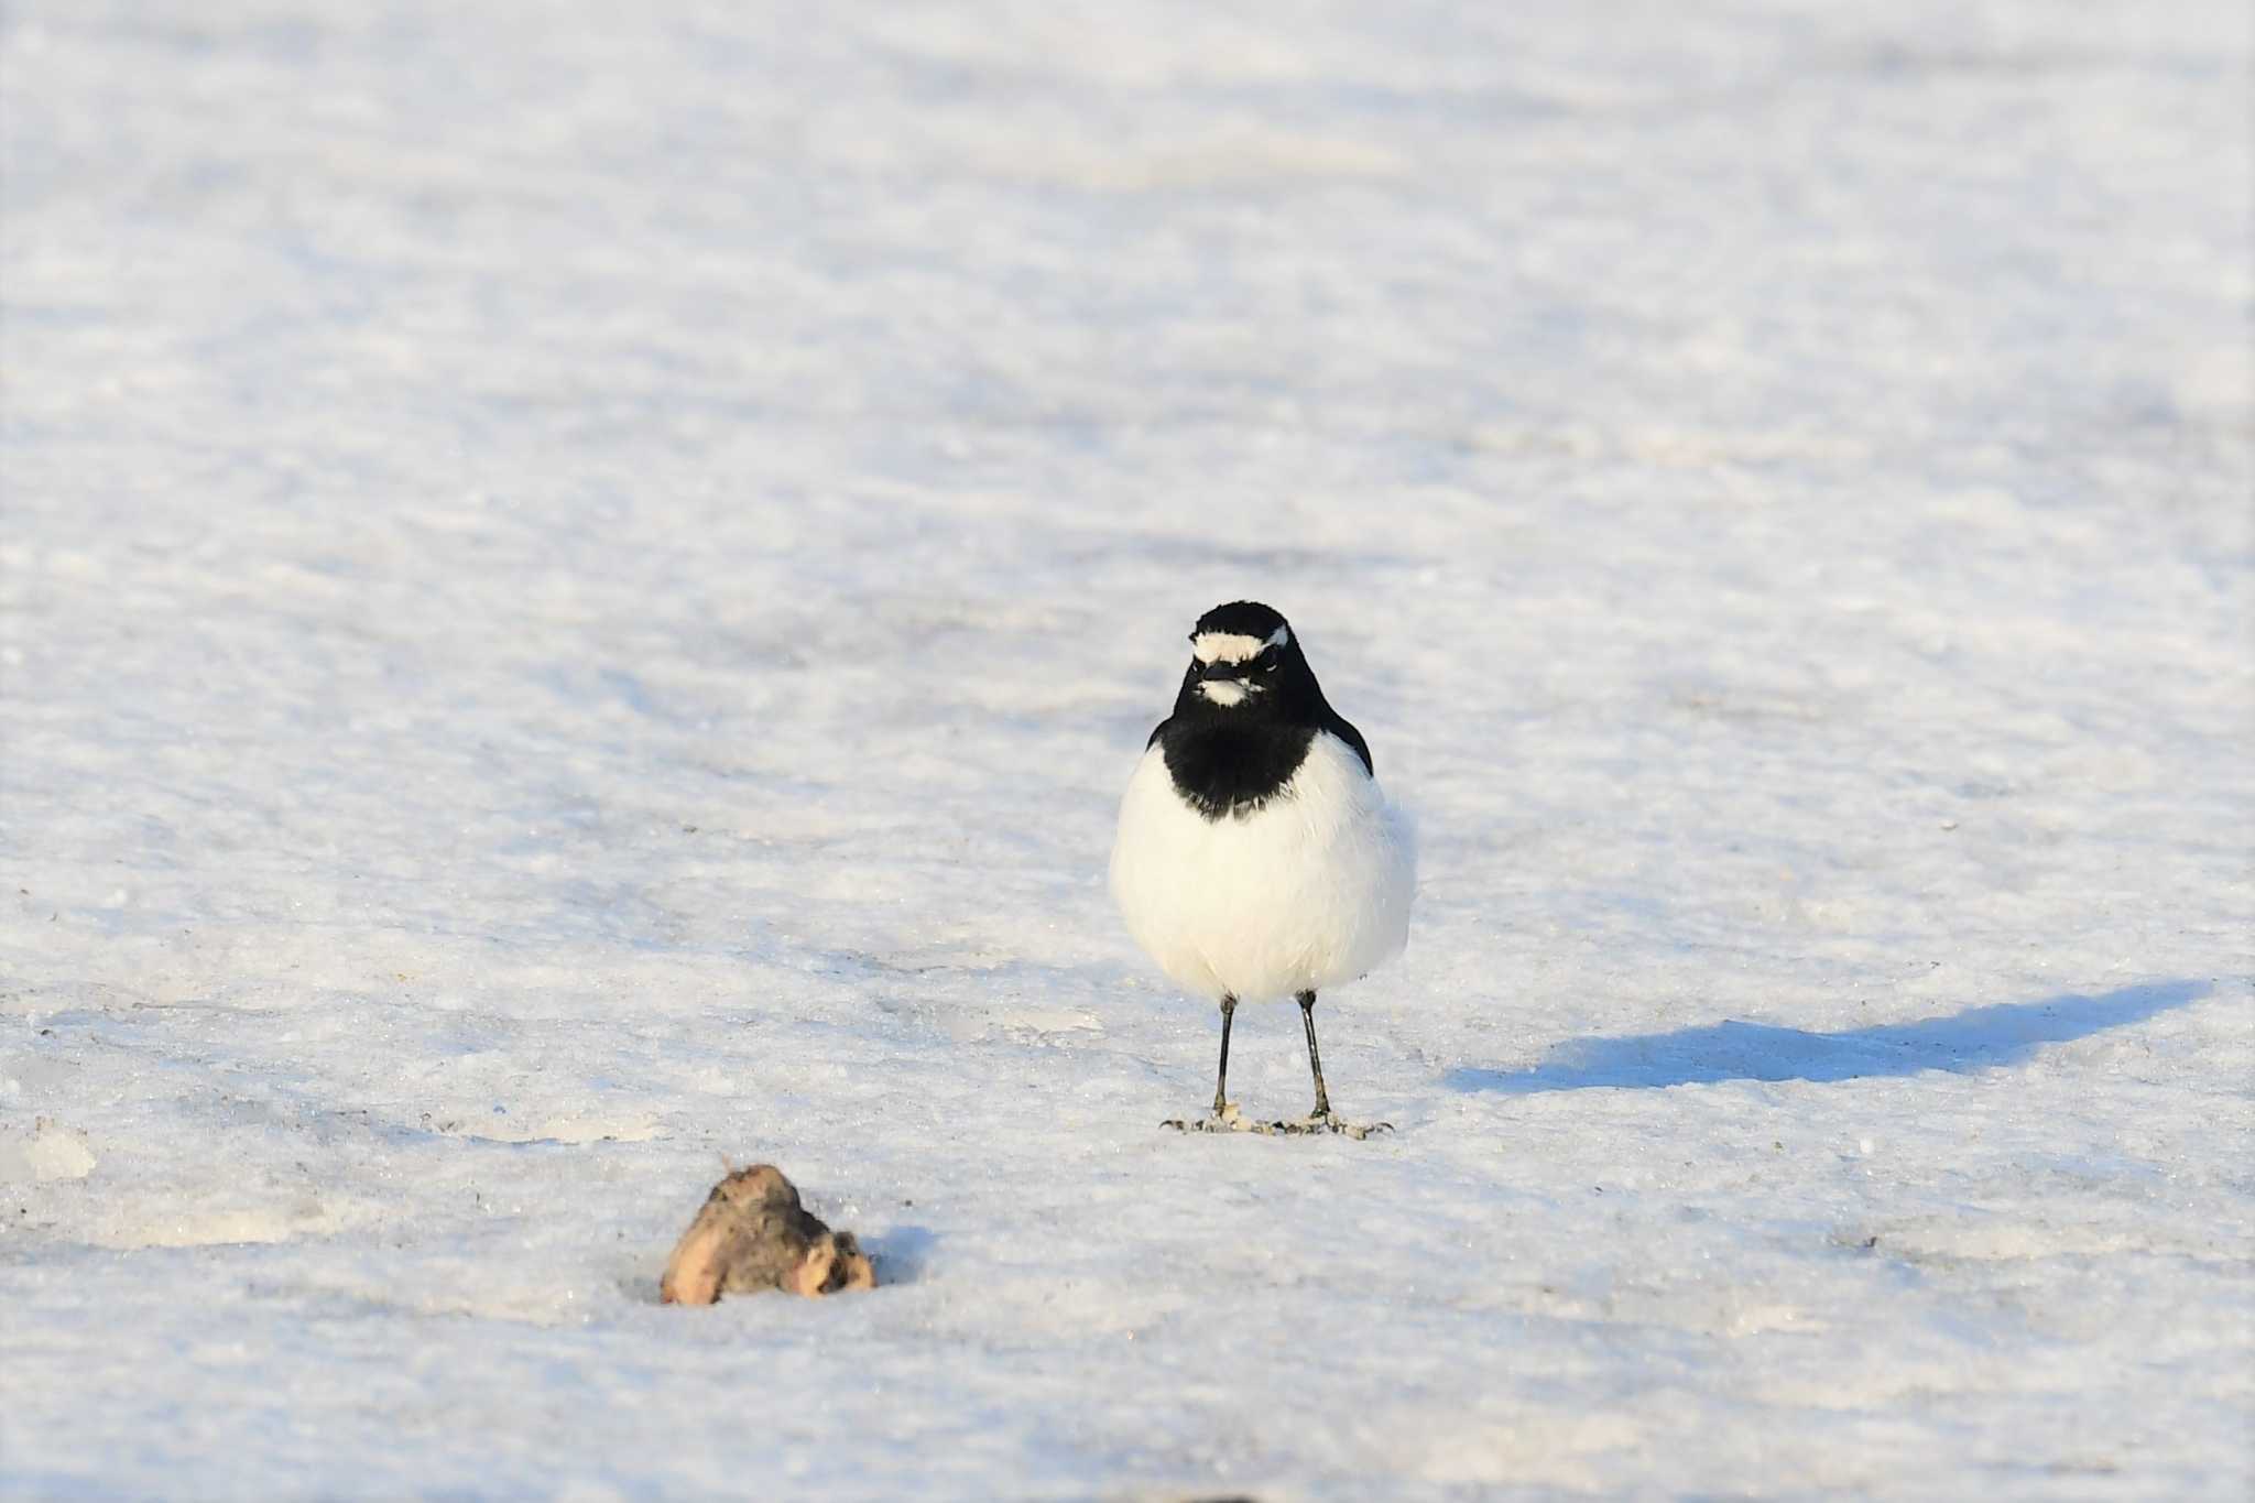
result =
M1869 1079L1919 1070L1984 1070L2020 1064L2045 1043L2086 1039L2210 994L2201 980L2158 980L2104 996L2061 994L1991 1003L1917 1023L1878 1023L1811 1034L1770 1023L1707 1023L1666 1034L1567 1039L1524 1070L1457 1068L1452 1091L1588 1091L1594 1086L1696 1086L1723 1079Z

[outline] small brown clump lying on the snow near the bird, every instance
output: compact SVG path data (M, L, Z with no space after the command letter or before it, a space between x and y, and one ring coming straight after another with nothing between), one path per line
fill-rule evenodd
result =
M785 1289L823 1296L875 1289L877 1269L852 1233L832 1233L798 1203L798 1188L771 1163L735 1170L713 1185L658 1280L667 1305L710 1305L724 1293Z

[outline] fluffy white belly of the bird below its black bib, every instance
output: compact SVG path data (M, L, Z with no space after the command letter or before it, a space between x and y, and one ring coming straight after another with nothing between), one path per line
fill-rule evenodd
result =
M1121 800L1112 897L1177 985L1245 1003L1369 973L1409 940L1416 845L1346 741L1317 732L1283 793L1206 820L1157 746Z

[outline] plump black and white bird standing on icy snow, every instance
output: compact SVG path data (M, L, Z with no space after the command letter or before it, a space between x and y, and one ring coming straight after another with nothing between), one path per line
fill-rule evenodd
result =
M1175 712L1121 800L1112 897L1175 985L1222 1007L1213 1118L1229 1104L1238 1003L1299 1000L1315 1113L1267 1131L1364 1129L1330 1115L1315 998L1409 937L1416 847L1378 789L1371 748L1324 699L1292 626L1240 599L1197 617Z

